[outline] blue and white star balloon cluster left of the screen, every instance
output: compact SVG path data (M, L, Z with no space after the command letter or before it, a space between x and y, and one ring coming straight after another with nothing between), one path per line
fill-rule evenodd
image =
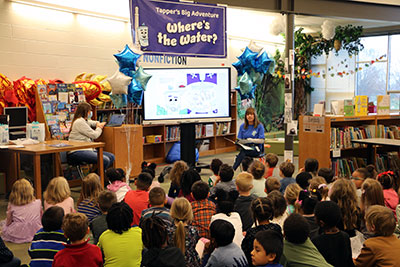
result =
M117 108L126 106L127 101L137 105L142 104L143 91L146 90L151 75L145 73L141 66L136 70L136 62L140 56L128 45L121 53L114 54L119 71L109 79L109 82L112 88L110 96Z

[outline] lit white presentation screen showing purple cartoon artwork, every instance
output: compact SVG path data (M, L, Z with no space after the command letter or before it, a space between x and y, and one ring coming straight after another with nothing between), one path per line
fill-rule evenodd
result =
M230 68L145 69L146 121L230 118Z

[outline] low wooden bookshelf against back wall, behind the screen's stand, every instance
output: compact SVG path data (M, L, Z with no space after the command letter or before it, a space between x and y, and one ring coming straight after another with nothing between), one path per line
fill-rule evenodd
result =
M200 156L208 156L236 150L236 146L225 140L236 140L236 91L231 91L231 121L205 122L196 125L196 141L201 141ZM160 142L149 143L146 136L161 136ZM180 129L176 123L143 125L143 160L163 163L172 145L180 140Z

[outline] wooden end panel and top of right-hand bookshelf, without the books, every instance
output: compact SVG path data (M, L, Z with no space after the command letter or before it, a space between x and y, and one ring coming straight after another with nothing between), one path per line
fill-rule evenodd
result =
M372 126L371 128L375 129L375 137L383 137L378 135L378 125L400 125L399 114L311 117L315 122L314 126L309 121L310 117L300 116L299 118L299 168L304 167L304 161L307 158L317 159L320 168L331 167L333 159L333 151L330 147L332 128ZM376 150L374 153L376 155ZM367 156L365 147L340 149L340 158L367 158Z

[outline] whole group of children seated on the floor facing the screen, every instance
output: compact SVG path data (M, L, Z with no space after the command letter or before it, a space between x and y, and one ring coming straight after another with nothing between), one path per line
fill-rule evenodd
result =
M334 178L307 159L293 178L294 165L277 167L275 154L265 164L245 158L236 177L219 159L210 166L206 183L175 162L168 194L154 181L155 165L142 165L135 190L122 169L106 171L106 190L91 173L76 210L64 177L49 182L43 207L31 183L17 180L2 239L32 242L32 267L399 265L394 172L369 166L350 179ZM19 266L2 239L0 264Z

